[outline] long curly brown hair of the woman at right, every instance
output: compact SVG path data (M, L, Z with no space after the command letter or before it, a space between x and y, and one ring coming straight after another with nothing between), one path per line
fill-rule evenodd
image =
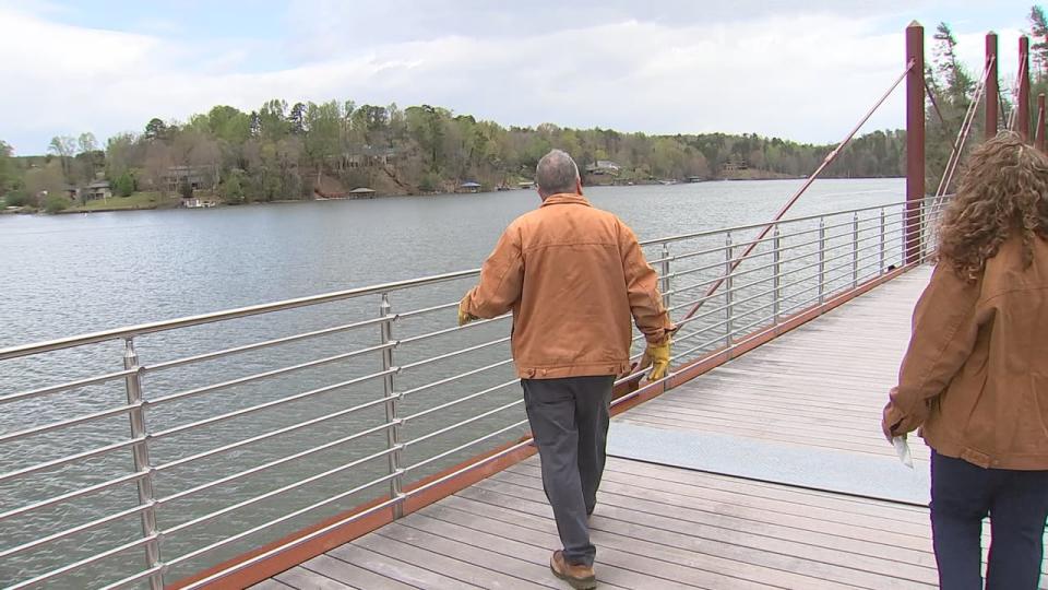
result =
M972 152L957 194L943 212L939 259L975 282L1008 238L1021 234L1023 261L1048 237L1048 157L1003 131Z

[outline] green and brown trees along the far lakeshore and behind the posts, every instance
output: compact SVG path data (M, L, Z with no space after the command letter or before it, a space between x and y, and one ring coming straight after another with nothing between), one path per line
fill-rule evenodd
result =
M1048 25L1039 7L1031 9L1029 23L1037 39L1032 46L1036 96L1048 90ZM974 98L976 76L957 61L955 47L952 30L940 23L926 71L934 98L927 113L929 187L937 186ZM1013 107L1001 99L1007 115ZM977 119L977 128L981 125ZM905 141L903 130L856 138L824 176L902 176ZM107 179L116 194L204 191L228 203L344 196L360 187L415 194L476 182L490 190L531 180L538 158L552 148L569 152L587 182L626 184L799 177L810 174L833 145L758 134L503 127L430 105L402 109L396 104L272 99L250 111L215 106L184 122L156 117L141 132L119 133L104 146L92 133L57 137L41 156L15 158L0 142L0 193L8 194L8 204L43 206L40 194L61 194L97 179Z

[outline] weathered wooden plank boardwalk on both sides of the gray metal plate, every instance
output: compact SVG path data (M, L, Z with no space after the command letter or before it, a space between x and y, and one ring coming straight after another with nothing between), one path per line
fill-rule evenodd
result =
M907 273L616 422L894 456L880 410L928 275ZM621 458L609 458L592 530L600 588L937 580L926 508ZM548 568L559 547L533 458L255 588L567 588Z

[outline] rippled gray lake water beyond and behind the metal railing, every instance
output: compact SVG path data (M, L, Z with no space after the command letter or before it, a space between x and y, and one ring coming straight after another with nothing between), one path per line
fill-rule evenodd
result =
M770 219L799 187L800 180L724 181L694 185L594 187L586 197L594 205L626 221L638 236L652 239ZM904 199L903 179L821 180L790 213L800 216ZM325 201L249 205L212 210L141 211L59 216L0 216L0 347L68 337L140 322L216 311L290 297L314 295L395 280L479 267L505 225L538 204L532 191L480 194L404 197L361 201ZM471 286L458 281L419 293L395 293L394 309L407 310L456 300ZM378 299L326 304L315 308L247 318L172 333L136 339L141 362L148 366L204 352L281 338L307 330L362 321L378 314ZM448 328L454 311L412 318L397 326L397 337L424 334ZM508 334L508 324L492 323L455 341L455 347ZM397 350L397 364L426 359L442 351L440 339ZM213 384L345 353L378 342L377 327L307 342L252 352L188 367L147 373L145 398L184 392ZM79 377L119 370L122 344L105 343L79 351L49 353L35 358L0 363L0 396L53 385ZM418 388L438 378L507 358L508 346L497 345L468 358L427 365L396 376L396 389ZM381 367L378 355L354 357L282 375L261 382L223 388L206 396L188 397L151 406L151 433L165 433L151 441L154 464L178 461L202 450L236 442L260 433L330 415L382 396L381 379L334 388ZM402 402L401 415L414 415L462 396L512 381L512 367L456 381ZM301 402L274 411L236 416L200 428L180 426L206 421L226 412L332 387ZM126 403L118 381L61 394L5 404L0 412L0 436ZM491 394L453 405L437 415L408 421L406 439L426 436L441 426L519 401L520 391L502 387ZM509 428L486 446L433 461L410 474L409 481L463 460L486 447L520 436L510 428L523 417L514 406L471 424L462 432L433 437L432 445L405 449L402 464L425 460L484 433ZM353 440L349 445L310 455L261 476L237 479L203 493L183 491L227 474L238 473L301 452L361 428L384 423L382 406L371 408L322 426L289 433L264 444L238 448L213 458L187 462L156 476L156 497L167 498L157 508L160 528L177 534L162 544L166 562L177 559L234 532L334 496L379 476L385 459L359 469L318 480L289 494L252 504L243 510L206 522L193 519L262 493L290 485L385 448L385 435ZM123 415L92 421L60 433L0 442L0 473L40 461L94 449L126 439ZM439 438L439 440L438 440ZM17 481L0 481L0 512L43 498L94 485L131 470L127 450L81 464L43 471ZM236 544L184 559L167 575L170 582L272 541L321 518L386 492L384 486L347 497L323 509L290 519ZM115 486L86 498L33 511L0 523L0 553L34 539L79 526L136 503L134 485ZM181 528L180 528L181 527ZM138 517L114 527L85 531L44 550L0 558L0 586L47 571L71 558L82 558L134 540L141 534ZM79 587L114 581L141 567L141 550L86 567L68 583Z

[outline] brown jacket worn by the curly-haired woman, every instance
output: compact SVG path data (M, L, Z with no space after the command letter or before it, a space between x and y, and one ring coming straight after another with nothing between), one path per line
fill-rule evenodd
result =
M909 350L884 409L939 453L982 468L1048 469L1048 243L1024 268L1013 237L975 283L940 264L914 311Z

